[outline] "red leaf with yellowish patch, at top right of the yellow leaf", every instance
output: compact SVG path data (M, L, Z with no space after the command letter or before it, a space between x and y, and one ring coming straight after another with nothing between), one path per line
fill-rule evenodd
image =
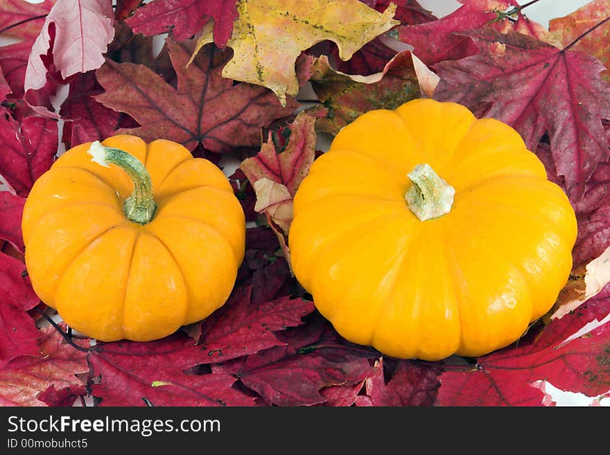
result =
M475 55L469 33L490 26L498 32L518 31L553 45L559 42L540 24L530 21L515 0L458 0L457 10L433 22L397 28L399 40L412 45L426 65Z

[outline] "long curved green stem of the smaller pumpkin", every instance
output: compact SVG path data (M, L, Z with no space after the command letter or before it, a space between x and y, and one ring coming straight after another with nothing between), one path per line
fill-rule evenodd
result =
M104 167L116 164L121 167L134 182L134 191L123 203L123 213L129 221L138 224L150 223L155 215L157 203L153 198L153 183L146 167L133 155L120 148L106 147L95 141L87 151L92 161Z

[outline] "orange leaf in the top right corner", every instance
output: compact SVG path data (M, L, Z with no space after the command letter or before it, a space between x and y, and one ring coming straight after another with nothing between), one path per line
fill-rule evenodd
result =
M604 19L610 17L610 0L593 0L582 8L564 17L551 19L548 23L550 33L557 37L563 46L569 46L575 40L572 49L597 57L606 68L602 78L610 81L610 22L587 33ZM582 34L587 33L585 36Z

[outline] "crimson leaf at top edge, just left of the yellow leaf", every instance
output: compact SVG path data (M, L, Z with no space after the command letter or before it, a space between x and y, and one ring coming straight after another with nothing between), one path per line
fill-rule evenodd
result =
M214 42L223 48L233 32L236 1L153 0L138 8L125 22L136 33L171 33L176 41L186 40L214 20Z

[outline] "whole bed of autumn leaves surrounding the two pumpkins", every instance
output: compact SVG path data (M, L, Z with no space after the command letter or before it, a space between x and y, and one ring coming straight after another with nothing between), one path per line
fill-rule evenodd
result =
M437 18L415 0L0 0L12 43L0 47L0 405L541 406L555 404L550 386L598 404L610 393L610 1L548 29L515 0L460 3ZM516 128L578 218L557 306L476 359L349 343L290 271L292 199L317 139L426 96ZM23 260L33 182L61 151L117 132L218 164L248 221L227 304L148 343L49 322Z

